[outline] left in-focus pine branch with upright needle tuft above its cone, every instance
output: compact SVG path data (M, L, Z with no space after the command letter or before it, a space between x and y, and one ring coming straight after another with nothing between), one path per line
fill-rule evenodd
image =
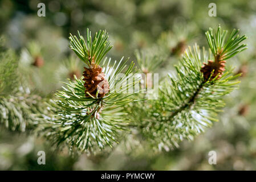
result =
M123 91L135 85L137 80L127 84L130 73L135 71L134 63L126 69L128 59L122 58L111 66L111 59L105 58L101 65L103 69L99 72L99 63L111 48L105 31L97 32L94 40L91 39L90 31L87 31L87 44L82 36L79 37L78 40L71 36L70 43L71 49L88 66L84 68L84 79L75 77L69 84L64 83L66 87L63 90L56 92L56 100L52 100L49 105L52 115L46 123L39 125L39 131L44 131L46 137L57 146L67 143L74 150L76 148L94 154L106 146L113 147L127 130L129 120L124 117L127 114L124 106L133 101L130 97L134 93L125 94ZM97 81L87 82L89 71L98 77L101 74L100 79L108 82L109 92L100 96L100 88L95 92L89 91L92 87L88 85ZM124 73L124 77L116 79L119 73Z

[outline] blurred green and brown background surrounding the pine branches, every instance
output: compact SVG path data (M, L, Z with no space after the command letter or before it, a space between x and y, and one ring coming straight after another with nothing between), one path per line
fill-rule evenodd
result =
M37 15L38 3L46 5L46 16ZM70 64L74 55L68 36L86 28L94 33L107 30L113 48L112 59L136 60L136 49L162 46L169 50L164 73L180 59L187 46L207 46L204 32L209 27L246 34L248 49L229 61L242 72L240 89L226 97L220 122L193 142L154 154L137 147L125 152L121 143L113 151L96 156L69 155L57 151L32 133L14 133L0 127L1 170L255 170L256 169L256 1L215 0L217 16L210 17L208 0L86 0L86 1L0 1L0 34L14 49L30 85L47 96L72 75L81 75L80 62ZM169 70L168 70L169 69ZM136 140L130 139L131 143ZM37 152L46 152L46 165L38 165ZM217 164L208 163L209 151L217 152Z

